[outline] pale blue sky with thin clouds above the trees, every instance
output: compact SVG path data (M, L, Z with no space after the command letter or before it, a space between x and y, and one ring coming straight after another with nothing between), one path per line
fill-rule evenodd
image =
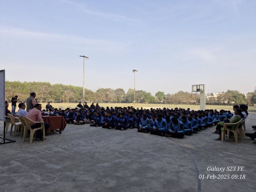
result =
M6 80L155 94L252 92L256 1L0 0Z

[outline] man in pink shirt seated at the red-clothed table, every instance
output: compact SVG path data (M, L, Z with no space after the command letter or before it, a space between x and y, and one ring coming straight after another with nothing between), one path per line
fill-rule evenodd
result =
M37 122L43 121L41 110L42 110L42 105L39 104L39 103L35 104L34 108L29 110L27 118L29 118L32 121L37 121ZM30 125L31 125L31 129L41 127L41 123L30 123ZM48 123L44 123L45 133L47 132L49 127L50 127L50 125ZM39 139L39 140L43 140L42 131L37 131L37 137L36 138Z

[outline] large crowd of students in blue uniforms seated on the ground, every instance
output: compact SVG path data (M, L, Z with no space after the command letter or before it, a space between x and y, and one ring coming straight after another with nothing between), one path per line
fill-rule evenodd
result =
M96 107L97 106L97 107ZM191 135L200 130L217 125L213 133L220 134L224 119L231 119L232 122L245 118L248 115L247 106L234 105L235 114L227 110L206 109L194 111L188 108L156 108L141 109L131 107L100 107L86 104L86 108L67 108L65 110L49 108L52 115L61 115L69 124L90 124L92 127L126 130L137 128L138 132L144 132L160 136L183 138L184 135ZM242 115L241 115L242 114ZM243 115L245 114L245 115ZM234 116L241 118L234 118ZM246 115L246 117L247 117ZM219 140L219 139L217 139Z

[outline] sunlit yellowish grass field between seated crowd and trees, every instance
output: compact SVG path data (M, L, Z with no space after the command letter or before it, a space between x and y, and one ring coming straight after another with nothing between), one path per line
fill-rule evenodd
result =
M42 104L42 108L45 108L46 104L47 103L41 103ZM51 103L51 105L54 107L54 108L67 108L67 107L70 107L70 108L75 108L76 105L78 103ZM89 106L91 103L87 103ZM96 103L95 103L96 104ZM133 106L134 107L134 104L133 103L99 103L99 106L100 107L128 107L128 106ZM163 108L163 107L166 107L166 108L175 108L175 107L178 107L178 108L190 108L190 110L199 110L200 109L200 105L179 105L179 104L145 104L145 103L136 103L135 104L135 107L143 107L143 108L146 108L146 109L150 109L151 107L152 108ZM11 106L11 103L9 103L9 110L11 111L12 110L12 106ZM233 106L232 105L206 105L206 108L207 109L217 109L217 110L221 110L221 109L225 109L225 110L230 110L231 112L233 111ZM16 108L16 112L18 110L18 106ZM256 107L248 107L248 112L256 112Z

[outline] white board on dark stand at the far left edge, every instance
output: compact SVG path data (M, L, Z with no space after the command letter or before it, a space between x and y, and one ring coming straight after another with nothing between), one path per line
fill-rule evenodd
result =
M0 70L0 120L5 117L5 70Z

